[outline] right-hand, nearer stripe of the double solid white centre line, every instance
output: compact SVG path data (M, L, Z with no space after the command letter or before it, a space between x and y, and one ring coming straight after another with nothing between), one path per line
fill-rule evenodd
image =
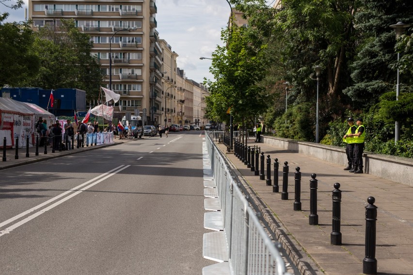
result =
M122 167L122 166L124 166L124 165L121 165L121 166L119 166L119 167ZM95 186L95 185L98 184L99 182L101 182L101 181L103 181L103 180L105 180L105 179L107 179L107 178L110 178L111 176L119 173L120 171L126 169L126 168L129 167L129 166L130 166L130 165L126 165L126 166L124 166L124 167L122 167L122 168L120 168L120 169L118 169L119 167L117 167L117 168L115 168L115 169L112 169L111 172L112 172L113 170L116 170L116 169L118 169L118 170L115 171L115 172L113 172L113 173L110 173L110 172L105 173L105 174L109 174L109 173L110 173L110 174L107 175L107 176L104 177L104 178L101 178L101 179L95 181L95 182L92 183L92 184L89 184L88 186L80 189L79 191L77 191L77 192L75 192L75 193L73 193L73 194L70 194L70 195L66 196L65 198L63 198L63 199L55 202L54 204L48 206L47 208L45 208L45 209L43 209L43 210L40 210L40 211L38 211L38 212L30 215L29 217L21 220L20 222L14 224L14 225L12 225L12 226L9 226L9 227L7 227L7 228L4 229L4 230L1 230L1 231L0 231L0 237L3 236L4 234L9 234L12 230L16 229L17 227L19 227L19 226L21 226L21 225L24 225L25 223L27 223L27 222L31 221L32 219L40 216L41 214L45 213L46 211L55 208L56 206L58 206L58 205L60 205L61 203L65 202L66 200L71 199L72 197L74 197L74 196L82 193L83 191L85 191L85 190L87 190L87 189ZM103 175L101 175L101 176L103 176ZM101 176L100 176L100 177L101 177ZM100 177L96 177L96 178L100 178ZM91 182L91 181L93 181L93 180L89 180L87 183L89 183L89 182ZM87 183L83 183L83 184L81 184L81 185L79 185L79 186L71 189L70 192L78 189L78 188L81 187L81 186L84 186L84 185L87 184ZM67 193L67 192L65 192L65 193ZM65 194L65 193L64 193L64 194ZM61 195L59 195L59 196L61 196ZM56 197L55 197L55 198L56 198ZM50 200L49 200L49 201L50 201ZM44 203L43 203L42 205L44 205ZM36 206L36 207L38 207L38 206ZM35 207L35 208L36 208L36 207Z

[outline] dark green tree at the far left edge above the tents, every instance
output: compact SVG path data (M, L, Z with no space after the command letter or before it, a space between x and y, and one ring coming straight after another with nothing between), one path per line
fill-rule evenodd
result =
M39 70L34 35L28 24L3 23L7 15L0 17L0 87L19 86Z

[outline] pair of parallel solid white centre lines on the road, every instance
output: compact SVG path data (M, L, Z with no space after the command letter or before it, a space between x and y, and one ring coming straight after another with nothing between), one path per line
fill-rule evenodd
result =
M123 166L123 167L122 167L122 166ZM71 192L79 189L80 187L82 187L82 186L84 186L84 185L86 185L86 184L88 184L88 183L90 183L90 182L93 182L93 181L95 181L95 180L98 179L98 178L101 178L101 179L93 182L92 184L89 184L88 186L86 186L86 187L78 190L77 192L75 192L75 193L73 193L73 194L70 194L70 195L66 196L65 198L63 198L63 199L55 202L54 204L48 206L47 208L45 208L45 209L43 209L43 210L39 210L38 212L30 215L29 217L21 220L20 222L14 224L14 225L12 225L12 226L9 226L9 227L7 227L7 228L4 229L4 230L1 230L1 231L0 231L0 237L3 236L4 234L9 234L12 230L16 229L17 227L19 227L19 226L21 226L21 225L24 225L25 223L31 221L32 219L40 216L40 215L43 214L44 212L55 208L56 206L58 206L59 204L65 202L66 200L68 200L68 199L76 196L77 194L80 194L80 193L82 193L83 191L85 191L85 190L87 190L87 189L95 186L95 185L98 184L99 182L101 182L101 181L103 181L103 180L105 180L105 179L107 179L107 178L110 178L111 176L119 173L120 171L126 169L126 168L129 167L129 166L130 166L130 165L126 165L126 166L125 166L125 165L120 165L120 166L116 167L115 169L112 169L111 171L109 171L109 172L107 172L107 173L104 173L104 174L102 174L102 175L100 175L100 176L98 176L98 177L95 177L95 178L93 178L93 179L91 179L91 180L88 180L88 181L86 181L85 183L82 183L82 184L76 186L75 188L70 189L69 191L66 191L66 192L64 192L64 193L62 193L62 194L60 194L60 195L57 195L57 196L49 199L48 201L46 201L46 202L44 202L44 203L41 203L41 204L39 204L39 205L37 205L37 206L29 209L29 210L26 210L26 211L24 211L24 212L22 212L22 213L20 213L20 214L18 214L18 215L16 215L16 216L14 216L13 218L8 219L7 221L2 222L2 223L0 224L0 227L1 227L1 226L5 226L5 225L7 225L7 224L9 224L9 223L11 223L11 222L13 222L13 221L15 221L16 219L18 219L18 218L20 218L20 217L23 217L23 216L27 215L28 213L31 213L32 211L37 210L37 209L39 209L39 208L41 208L41 207L49 204L50 202L52 202L52 201L54 201L54 200L56 200L56 199L58 199L58 198L61 198L61 197L64 196L65 194L69 194L69 193L71 193ZM113 172L113 173L112 173L112 172ZM106 175L106 176L105 176L105 175ZM105 176L105 177L104 177L104 176ZM104 177L104 178L102 178L102 177Z

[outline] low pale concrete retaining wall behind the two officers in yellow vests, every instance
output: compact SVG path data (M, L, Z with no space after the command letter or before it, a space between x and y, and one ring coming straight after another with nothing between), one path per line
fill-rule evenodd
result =
M291 150L326 162L342 164L343 167L347 165L346 149L344 147L270 136L261 136L261 140L263 143L277 148ZM370 152L365 152L363 157L365 173L413 186L413 159Z

